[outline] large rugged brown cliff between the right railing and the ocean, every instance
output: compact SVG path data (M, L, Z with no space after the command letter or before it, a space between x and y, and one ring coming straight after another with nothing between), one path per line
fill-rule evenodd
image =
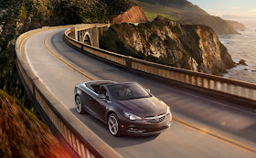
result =
M112 40L110 40L112 39ZM219 75L234 67L228 50L209 26L182 25L157 16L153 22L111 26L100 47L178 68Z

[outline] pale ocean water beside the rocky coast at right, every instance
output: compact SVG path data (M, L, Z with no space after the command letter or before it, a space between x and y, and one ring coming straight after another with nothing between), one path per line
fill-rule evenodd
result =
M235 62L244 59L248 66L239 65L228 69L223 77L238 79L256 84L256 20L236 20L246 26L240 35L220 35L220 42L228 48Z

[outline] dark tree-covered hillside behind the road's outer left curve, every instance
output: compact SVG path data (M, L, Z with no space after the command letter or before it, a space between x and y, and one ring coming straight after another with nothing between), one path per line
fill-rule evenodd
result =
M133 6L130 0L2 0L0 89L26 102L27 108L35 111L28 103L26 91L16 71L16 37L41 26L112 22L115 16Z

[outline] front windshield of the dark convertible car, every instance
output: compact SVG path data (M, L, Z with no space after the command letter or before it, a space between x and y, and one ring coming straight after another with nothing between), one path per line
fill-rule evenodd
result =
M151 95L137 83L113 84L107 86L116 100L149 98Z

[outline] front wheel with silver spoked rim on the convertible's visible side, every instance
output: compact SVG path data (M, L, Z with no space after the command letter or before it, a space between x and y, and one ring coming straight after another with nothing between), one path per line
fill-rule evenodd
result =
M120 130L121 125L119 124L118 117L114 113L110 114L108 117L108 126L109 131L112 133L113 136L119 137L122 135Z

